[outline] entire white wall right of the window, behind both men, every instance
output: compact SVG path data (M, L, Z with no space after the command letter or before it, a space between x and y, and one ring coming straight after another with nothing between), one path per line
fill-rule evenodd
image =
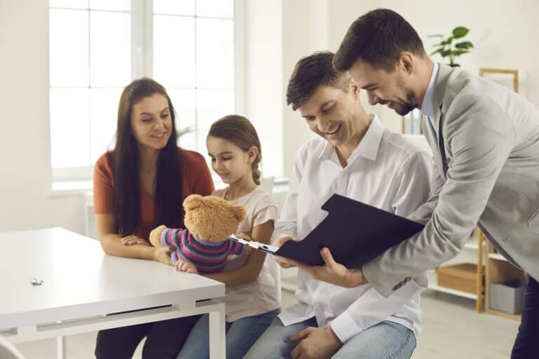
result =
M291 171L295 151L312 137L299 114L285 103L286 84L293 65L315 50L337 50L352 21L374 8L387 7L401 13L418 31L428 53L434 43L428 35L449 34L458 25L469 27L467 39L476 48L460 57L460 64L476 73L479 67L518 69L521 93L539 105L539 67L536 65L539 48L529 40L539 34L539 24L535 21L539 2L534 0L244 1L251 8L247 19L251 25L245 28L246 49L251 56L247 68L252 70L246 74L250 81L246 91L246 101L250 104L248 116L263 123L257 124L257 128L262 128L262 142L266 143L262 146L267 149L267 143L279 142L279 151L271 154L266 151L262 162L270 161L272 168L281 167L285 176ZM253 9L256 16L249 19ZM434 56L433 60L445 62L439 56ZM368 111L378 114L385 126L401 130L401 117L394 111L382 106L371 107L365 93L361 94L361 102Z

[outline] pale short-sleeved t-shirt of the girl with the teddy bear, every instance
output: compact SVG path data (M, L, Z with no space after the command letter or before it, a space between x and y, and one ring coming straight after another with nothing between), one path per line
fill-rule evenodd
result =
M228 187L214 191L212 196L225 198ZM243 205L247 213L243 222L238 226L237 233L246 233L251 236L253 227L265 224L267 221L276 221L279 208L272 197L260 186L250 194L229 201ZM246 255L232 255L227 259L225 271L237 269L246 262ZM279 308L281 305L281 278L279 267L270 256L266 256L258 278L251 283L227 287L226 297L220 299L226 304L226 320L235 320L257 316Z

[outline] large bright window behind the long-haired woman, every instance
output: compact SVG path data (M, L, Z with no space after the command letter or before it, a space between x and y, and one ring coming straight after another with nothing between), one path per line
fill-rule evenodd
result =
M209 126L235 111L234 0L50 0L51 164L91 179L114 148L121 90L149 76L168 90L182 147L205 153Z

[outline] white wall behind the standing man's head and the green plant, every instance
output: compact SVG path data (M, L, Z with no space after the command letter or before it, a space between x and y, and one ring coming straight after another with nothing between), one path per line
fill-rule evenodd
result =
M479 67L518 69L523 94L539 106L539 2L535 0L339 0L329 8L329 47L337 50L350 24L360 15L375 8L390 8L404 16L421 37L427 53L436 39L430 34L450 34L463 25L470 29L469 39L475 46L472 53L458 59L460 65L477 73ZM432 59L446 62L439 55ZM387 107L371 108L387 126L399 130L400 119Z

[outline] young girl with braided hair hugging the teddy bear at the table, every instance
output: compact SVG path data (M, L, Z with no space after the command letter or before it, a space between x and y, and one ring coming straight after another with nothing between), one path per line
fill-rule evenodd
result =
M206 140L211 167L228 184L213 192L244 206L247 216L239 224L253 241L270 243L278 208L260 186L261 151L255 128L247 118L225 116L213 123ZM185 262L176 268L185 270ZM257 250L232 256L225 271L208 275L226 284L227 358L243 358L280 313L281 290L277 264ZM194 325L179 359L209 358L208 315Z

